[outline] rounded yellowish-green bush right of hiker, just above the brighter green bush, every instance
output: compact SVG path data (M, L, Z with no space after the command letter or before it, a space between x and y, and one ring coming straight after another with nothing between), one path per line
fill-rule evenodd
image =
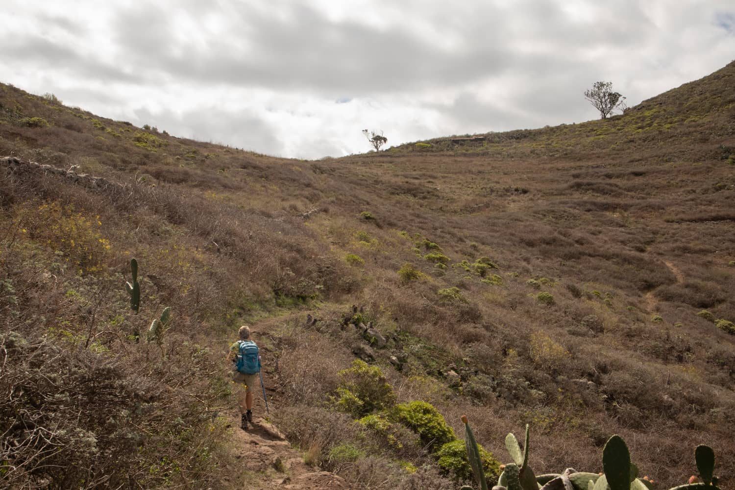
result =
M377 366L355 359L352 367L342 370L337 388L337 408L355 418L375 410L390 408L395 403L395 393L383 372Z

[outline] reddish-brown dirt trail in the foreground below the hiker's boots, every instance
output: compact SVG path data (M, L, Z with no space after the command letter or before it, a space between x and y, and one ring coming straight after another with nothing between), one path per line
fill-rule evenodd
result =
M240 429L239 417L232 417L230 423L235 458L243 469L258 477L258 480L248 482L248 489L354 489L343 478L304 464L298 451L264 419L255 417L246 431Z

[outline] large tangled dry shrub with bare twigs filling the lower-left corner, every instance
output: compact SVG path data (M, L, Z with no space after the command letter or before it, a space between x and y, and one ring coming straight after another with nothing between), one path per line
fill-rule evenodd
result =
M215 480L212 450L222 428L193 400L146 375L153 364L138 359L134 368L12 331L1 341L0 459L10 487L168 481L207 488ZM175 378L187 369L171 371Z

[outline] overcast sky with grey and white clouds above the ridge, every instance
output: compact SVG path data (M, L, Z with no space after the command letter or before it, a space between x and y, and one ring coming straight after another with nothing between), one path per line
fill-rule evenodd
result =
M2 0L0 82L317 159L598 117L735 59L735 1Z

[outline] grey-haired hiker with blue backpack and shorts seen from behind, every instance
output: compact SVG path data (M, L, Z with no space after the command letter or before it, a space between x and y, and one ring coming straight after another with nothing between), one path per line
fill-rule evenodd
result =
M238 334L240 339L230 346L228 358L232 361L232 381L245 385L245 394L238 394L238 402L240 428L248 430L248 422L253 422L253 390L258 383L260 356L258 346L250 338L250 327L243 325Z

